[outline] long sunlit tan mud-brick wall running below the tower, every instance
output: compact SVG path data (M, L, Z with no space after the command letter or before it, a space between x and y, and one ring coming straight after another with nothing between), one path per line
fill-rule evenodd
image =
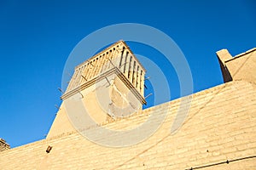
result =
M255 65L241 67L246 73ZM73 131L0 152L0 169L256 169L256 84L236 74L239 80L188 96L189 114L177 133L170 132L182 99L104 125L135 127L167 111L159 129L139 144L106 147ZM151 123L158 121L156 117ZM52 150L46 153L49 145Z

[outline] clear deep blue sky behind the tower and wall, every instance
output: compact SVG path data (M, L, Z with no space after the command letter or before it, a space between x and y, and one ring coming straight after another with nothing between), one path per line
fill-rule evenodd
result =
M223 82L216 51L255 47L255 8L255 1L0 1L0 138L11 147L44 139L61 104L66 59L92 31L125 22L164 31L189 61L198 92Z

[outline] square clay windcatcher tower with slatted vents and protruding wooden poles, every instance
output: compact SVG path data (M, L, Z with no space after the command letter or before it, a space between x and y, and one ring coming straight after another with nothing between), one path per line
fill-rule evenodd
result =
M127 116L146 104L145 71L124 41L115 42L75 67L61 99L65 102L79 94L86 111L97 123ZM48 137L73 130L63 103Z

